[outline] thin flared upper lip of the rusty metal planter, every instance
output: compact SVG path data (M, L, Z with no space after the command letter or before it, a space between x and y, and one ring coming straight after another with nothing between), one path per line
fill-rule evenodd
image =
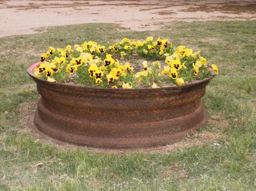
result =
M198 84L201 83L205 83L210 81L211 79L213 79L214 75L207 77L204 80L198 80L196 82L192 82L192 83L187 83L187 84L183 84L182 86L169 86L169 87L161 87L161 88L133 88L133 89L123 89L123 88L99 88L99 87L89 87L89 86L83 86L83 85L78 85L78 84L67 84L67 83L54 83L54 82L49 82L46 80L41 80L39 78L37 78L34 74L33 74L33 70L35 69L35 67L38 67L39 64L41 62L37 61L34 63L31 63L31 65L26 69L26 72L32 77L33 80L35 81L39 81L39 82L43 82L43 83L48 83L48 84L52 84L52 86L62 86L62 87L77 87L77 88L84 88L84 89L95 89L95 90L100 90L100 89L104 89L104 90L110 90L110 91L123 91L123 92L127 92L127 91L139 91L139 90L151 90L151 91L159 91L159 90L170 90L170 89L183 89L183 88L188 88L188 87L193 87L193 86L197 86ZM211 66L208 66L211 68ZM211 70L212 74L213 71Z

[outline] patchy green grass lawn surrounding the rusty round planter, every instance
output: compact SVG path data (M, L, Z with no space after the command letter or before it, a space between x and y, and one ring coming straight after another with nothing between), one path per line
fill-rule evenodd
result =
M217 63L220 75L203 98L208 125L190 137L200 142L208 133L217 140L117 154L58 148L31 133L24 118L39 95L25 69L49 46L147 36L201 50ZM85 24L0 38L0 190L255 190L255 40L255 20L173 22L144 32Z

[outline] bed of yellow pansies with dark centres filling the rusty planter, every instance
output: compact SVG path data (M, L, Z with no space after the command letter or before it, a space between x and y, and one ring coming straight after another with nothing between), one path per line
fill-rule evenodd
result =
M158 88L180 86L211 75L218 67L200 51L174 47L169 39L124 38L119 43L99 45L85 41L65 48L49 47L34 69L39 79L58 83L84 84L102 88Z

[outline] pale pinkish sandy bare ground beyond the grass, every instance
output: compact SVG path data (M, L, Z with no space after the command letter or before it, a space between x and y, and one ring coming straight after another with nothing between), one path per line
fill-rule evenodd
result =
M256 18L255 13L256 1L237 0L0 0L0 37L36 33L47 26L83 23L117 23L131 30L156 30L172 20L249 20Z

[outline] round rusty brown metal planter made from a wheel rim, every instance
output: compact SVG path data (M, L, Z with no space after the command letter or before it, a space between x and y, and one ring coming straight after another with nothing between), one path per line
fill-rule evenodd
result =
M34 122L52 138L100 148L146 148L177 142L207 123L201 97L213 76L155 89L109 89L52 83L27 69L41 95Z

